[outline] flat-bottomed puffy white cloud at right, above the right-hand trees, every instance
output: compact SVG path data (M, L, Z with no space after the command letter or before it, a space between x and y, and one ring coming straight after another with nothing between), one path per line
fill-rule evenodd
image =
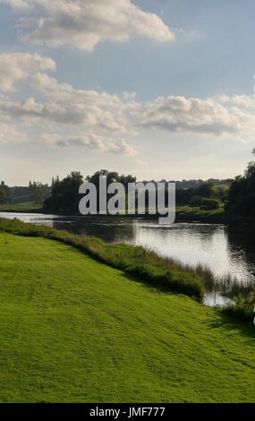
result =
M235 102L238 97L235 96ZM221 101L222 102L222 101ZM255 133L255 116L216 99L158 98L147 104L141 125L168 132L214 136Z

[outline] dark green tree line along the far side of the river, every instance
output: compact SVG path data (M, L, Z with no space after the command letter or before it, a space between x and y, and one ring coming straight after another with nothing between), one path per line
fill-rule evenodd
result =
M252 150L255 157L255 149ZM42 205L46 212L77 214L81 194L79 188L84 181L96 185L99 194L99 177L106 177L106 185L121 183L127 189L129 183L136 183L136 177L132 175L120 175L115 171L101 169L92 176L82 176L79 171L72 171L71 174L60 180L58 176L52 179L52 184L47 185L40 182L30 182L30 199ZM157 184L154 180L151 180ZM166 180L161 180L166 182ZM144 184L149 182L144 181ZM182 185L182 186L180 186ZM183 185L191 185L183 187ZM12 202L13 192L21 187L8 187L1 182L0 203ZM23 188L23 187L22 187ZM126 190L127 192L127 190ZM166 189L166 205L167 205ZM98 197L99 202L99 197ZM149 192L146 194L146 205L149 203ZM201 210L217 210L220 206L225 208L227 220L232 223L254 223L255 215L255 160L249 162L243 176L236 176L233 179L218 180L183 180L176 182L176 204L177 206L190 206Z

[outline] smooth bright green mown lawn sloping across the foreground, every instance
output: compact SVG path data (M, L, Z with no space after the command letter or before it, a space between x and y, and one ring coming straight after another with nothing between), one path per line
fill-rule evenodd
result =
M0 235L1 402L252 402L254 331L47 238Z

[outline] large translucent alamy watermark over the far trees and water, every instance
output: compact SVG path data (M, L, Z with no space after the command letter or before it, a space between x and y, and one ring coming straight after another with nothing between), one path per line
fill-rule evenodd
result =
M79 193L85 194L79 204L82 215L158 214L161 225L175 220L175 183L128 183L125 188L121 183L107 185L106 176L100 176L98 187L86 182Z

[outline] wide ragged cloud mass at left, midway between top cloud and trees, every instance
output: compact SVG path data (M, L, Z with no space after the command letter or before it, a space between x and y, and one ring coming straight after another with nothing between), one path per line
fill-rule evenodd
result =
M45 100L1 97L0 115L5 123L15 122L25 130L31 142L39 140L57 148L87 148L122 156L136 154L128 142L119 138L123 133L134 133L129 113L140 107L135 101L123 102L106 92L75 90L45 73L34 74L27 83ZM18 134L9 132L5 138L18 138Z

